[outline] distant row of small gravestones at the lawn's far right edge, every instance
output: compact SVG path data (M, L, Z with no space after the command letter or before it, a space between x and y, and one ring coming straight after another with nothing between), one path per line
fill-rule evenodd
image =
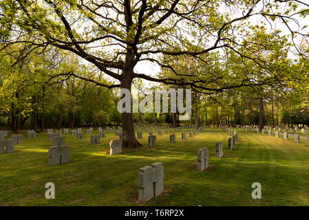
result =
M253 132L259 133L258 128L243 126L242 129L244 131L253 131ZM304 139L304 140L307 141L307 146L309 146L309 136L299 135L297 133L297 127L295 127L295 129L286 127L284 129L284 132L281 132L282 129L279 128L278 126L273 128L273 129L270 126L265 126L264 129L261 130L262 134L265 134L265 131L268 131L268 135L270 135L270 136L275 134L275 137L280 137L280 135L281 135L282 137L284 137L284 140L289 140L289 137L292 137L292 138L294 138L295 143L300 143L301 139ZM292 131L292 134L288 133L288 131ZM301 133L303 133L303 135L308 135L308 127L301 129Z

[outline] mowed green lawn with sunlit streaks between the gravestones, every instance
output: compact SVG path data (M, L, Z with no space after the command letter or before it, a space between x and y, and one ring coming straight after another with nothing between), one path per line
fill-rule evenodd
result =
M25 131L24 131L25 132ZM70 132L70 131L69 131ZM85 131L84 131L85 133ZM95 131L93 134L96 134ZM153 131L157 135L157 131ZM164 165L164 193L145 206L308 206L309 147L275 135L237 130L238 144L228 150L228 133L205 129L187 140L176 133L157 135L157 146L109 155L115 133L92 145L90 135L76 140L70 133L69 164L48 166L47 133L37 133L17 153L0 154L0 206L140 206L138 169L153 162ZM10 134L8 135L10 136ZM143 132L142 144L148 135ZM222 142L224 157L215 157ZM198 172L197 153L209 148L209 170ZM45 199L45 184L53 182L56 199ZM262 184L262 199L252 199L253 182Z

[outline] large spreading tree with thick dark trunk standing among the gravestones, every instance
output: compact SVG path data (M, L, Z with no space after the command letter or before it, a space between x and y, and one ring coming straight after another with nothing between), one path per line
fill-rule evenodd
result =
M232 50L267 69L254 52L242 54L239 50L252 44L243 41L254 27L248 19L258 17L270 24L279 20L292 32L294 40L301 32L292 29L290 23L306 16L308 8L306 1L300 0L3 0L0 35L3 47L24 42L28 43L27 49L52 45L77 54L119 82L107 85L93 81L103 87L131 90L132 80L143 78L196 91L221 91L255 82L244 78L240 85L230 82L224 87L208 87L209 78L196 80L193 76L191 80L190 74L179 78L182 74L175 70L175 64L164 61L169 56L199 59L215 50ZM31 41L27 40L29 35ZM134 72L142 61L170 69L176 77L157 78ZM65 75L81 78L74 72ZM213 76L210 80L216 79ZM123 147L140 146L131 113L122 113L122 126Z

